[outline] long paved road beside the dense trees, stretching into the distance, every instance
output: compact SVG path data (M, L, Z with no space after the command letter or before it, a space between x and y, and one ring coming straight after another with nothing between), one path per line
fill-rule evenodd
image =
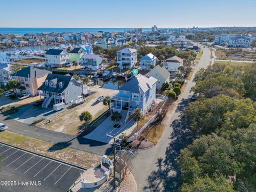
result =
M209 65L210 57L210 50L207 47L203 48L203 55L195 67L195 73ZM179 116L189 102L193 85L194 83L189 81L177 108L173 111L170 124L157 145L151 149L138 151L133 159L132 173L137 181L138 191L178 191L181 175L177 157L180 149L191 142L188 125Z

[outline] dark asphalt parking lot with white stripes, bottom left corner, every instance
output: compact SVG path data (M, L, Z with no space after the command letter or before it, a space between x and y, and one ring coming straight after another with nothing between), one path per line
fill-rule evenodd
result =
M1 181L35 181L39 186L1 186L3 191L67 191L82 169L0 143ZM4 188L6 190L4 190ZM8 190L7 190L8 189Z

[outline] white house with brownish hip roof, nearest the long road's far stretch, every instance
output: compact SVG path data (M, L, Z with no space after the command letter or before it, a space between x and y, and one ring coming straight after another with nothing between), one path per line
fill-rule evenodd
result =
M176 55L164 61L164 67L171 73L171 76L179 74L181 66L183 66L183 59Z

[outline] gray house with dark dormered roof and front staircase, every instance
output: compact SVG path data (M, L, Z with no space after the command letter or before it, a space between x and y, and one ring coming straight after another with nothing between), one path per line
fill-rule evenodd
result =
M60 102L69 103L78 99L78 96L88 93L87 85L78 83L73 76L48 74L45 82L38 90L43 91L43 108Z

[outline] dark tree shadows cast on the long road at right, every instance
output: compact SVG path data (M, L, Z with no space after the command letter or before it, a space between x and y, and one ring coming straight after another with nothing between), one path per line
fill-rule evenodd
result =
M177 111L182 113L188 105L188 100L182 100ZM176 119L170 125L173 128L169 139L169 146L165 151L165 158L158 158L157 170L151 172L143 188L144 191L178 191L182 184L181 171L178 165L180 150L191 143L191 132L186 119Z

